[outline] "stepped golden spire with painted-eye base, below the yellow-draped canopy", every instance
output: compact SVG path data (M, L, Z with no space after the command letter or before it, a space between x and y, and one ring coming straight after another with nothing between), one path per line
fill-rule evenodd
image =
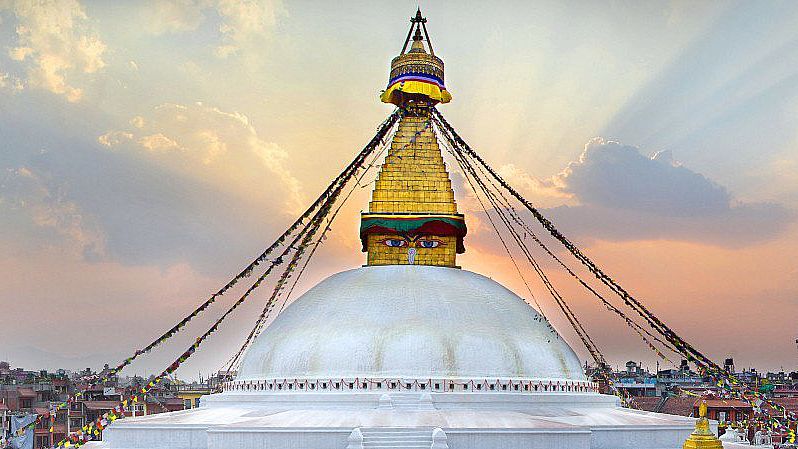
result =
M361 216L368 265L454 267L466 232L429 109L405 111Z

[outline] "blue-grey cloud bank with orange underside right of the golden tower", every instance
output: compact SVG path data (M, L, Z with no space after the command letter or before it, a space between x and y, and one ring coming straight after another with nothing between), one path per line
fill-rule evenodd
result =
M548 215L563 229L607 240L672 239L745 246L772 239L792 221L779 204L736 201L729 191L679 164L670 152L592 139L557 176L512 173L523 191L566 198ZM531 187L530 187L531 186Z

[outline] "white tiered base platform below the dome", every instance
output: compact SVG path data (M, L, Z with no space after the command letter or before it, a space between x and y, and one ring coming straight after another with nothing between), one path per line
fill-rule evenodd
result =
M226 392L197 409L117 421L85 447L679 449L693 428L692 418L596 393Z

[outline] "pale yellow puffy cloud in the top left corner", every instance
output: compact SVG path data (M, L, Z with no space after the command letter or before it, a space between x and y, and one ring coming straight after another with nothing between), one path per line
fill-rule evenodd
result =
M105 66L106 45L90 29L83 7L76 0L0 2L0 10L16 18L16 46L8 56L23 64L25 83L63 95L76 102L83 97L77 87L81 74Z

